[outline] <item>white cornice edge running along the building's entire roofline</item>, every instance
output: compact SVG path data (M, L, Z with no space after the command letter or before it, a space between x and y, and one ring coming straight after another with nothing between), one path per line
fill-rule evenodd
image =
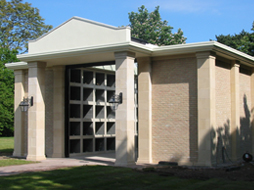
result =
M209 41L200 43L169 45L169 46L147 46L137 42L123 42L115 44L106 44L92 47L81 47L75 49L67 49L61 51L42 52L34 54L18 55L18 59L23 62L6 64L8 68L22 69L27 67L27 63L31 61L47 61L51 59L84 56L99 53L114 53L119 51L132 51L140 53L142 56L157 57L164 55L177 55L187 53L197 53L202 51L214 51L220 56L225 56L231 60L239 60L243 64L254 66L254 57L235 50L231 47L223 45L219 42Z

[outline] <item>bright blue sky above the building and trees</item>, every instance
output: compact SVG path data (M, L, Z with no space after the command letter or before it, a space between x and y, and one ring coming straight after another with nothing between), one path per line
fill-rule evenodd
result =
M181 28L186 43L216 40L215 35L251 32L254 0L23 0L40 10L54 28L73 16L112 26L129 25L128 13L142 5L149 12L160 6L162 20L173 32Z

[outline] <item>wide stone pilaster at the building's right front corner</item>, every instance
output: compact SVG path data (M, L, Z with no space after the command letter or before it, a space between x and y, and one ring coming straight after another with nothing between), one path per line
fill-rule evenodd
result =
M198 82L198 165L211 166L215 133L215 56L197 53Z

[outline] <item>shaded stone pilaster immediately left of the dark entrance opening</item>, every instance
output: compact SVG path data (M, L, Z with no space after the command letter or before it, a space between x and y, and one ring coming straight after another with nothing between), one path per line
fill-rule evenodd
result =
M53 154L54 158L64 157L64 66L53 67Z

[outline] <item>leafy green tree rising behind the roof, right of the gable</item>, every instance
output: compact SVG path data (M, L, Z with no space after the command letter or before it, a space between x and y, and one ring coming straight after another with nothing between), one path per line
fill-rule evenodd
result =
M158 46L183 44L186 41L180 28L177 33L172 34L173 27L168 25L168 21L161 20L159 6L149 13L145 6L142 5L138 8L138 13L131 12L128 14L131 36L134 38L139 38Z

